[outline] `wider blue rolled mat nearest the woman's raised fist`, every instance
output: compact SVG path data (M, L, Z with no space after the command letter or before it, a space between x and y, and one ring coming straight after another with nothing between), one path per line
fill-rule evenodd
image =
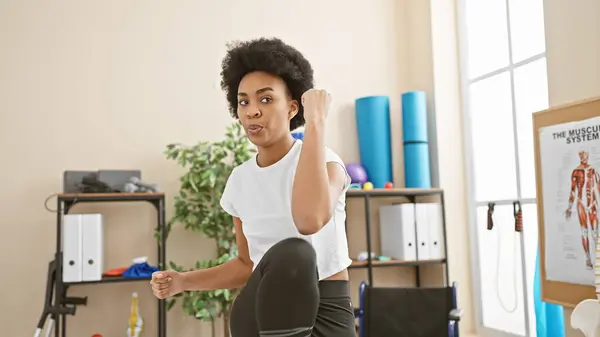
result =
M356 100L356 128L360 162L375 188L392 182L390 99L368 96Z

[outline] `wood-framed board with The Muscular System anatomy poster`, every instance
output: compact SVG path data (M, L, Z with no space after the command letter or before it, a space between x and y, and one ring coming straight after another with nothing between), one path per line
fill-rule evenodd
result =
M585 231L581 228L588 228L592 264L596 243L588 219L580 220L578 187L583 186L581 182L587 183L586 179L599 184L600 181L580 174L589 173L589 169L576 169L587 167L581 164L581 156L590 152L587 149L595 148L598 154L588 153L589 164L600 175L600 97L534 113L533 132L542 300L574 307L596 297L594 270L587 266L582 240ZM600 197L600 186L595 186L594 191ZM584 203L587 192L583 186ZM571 197L571 216L566 217ZM596 204L595 212L600 218L600 199ZM591 208L583 210L589 218Z

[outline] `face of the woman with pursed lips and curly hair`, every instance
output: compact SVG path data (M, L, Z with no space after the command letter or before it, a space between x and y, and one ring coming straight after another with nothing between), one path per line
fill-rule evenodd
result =
M248 139L258 147L268 147L288 135L298 107L285 82L277 76L252 72L238 87L238 118Z

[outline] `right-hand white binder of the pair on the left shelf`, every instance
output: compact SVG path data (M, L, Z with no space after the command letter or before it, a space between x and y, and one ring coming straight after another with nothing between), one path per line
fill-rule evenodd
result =
M82 214L82 280L99 281L104 270L102 214Z

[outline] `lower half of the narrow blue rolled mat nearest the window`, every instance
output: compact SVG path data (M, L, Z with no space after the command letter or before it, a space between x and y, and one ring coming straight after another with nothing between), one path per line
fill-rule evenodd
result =
M404 144L404 180L407 188L431 188L427 143Z

